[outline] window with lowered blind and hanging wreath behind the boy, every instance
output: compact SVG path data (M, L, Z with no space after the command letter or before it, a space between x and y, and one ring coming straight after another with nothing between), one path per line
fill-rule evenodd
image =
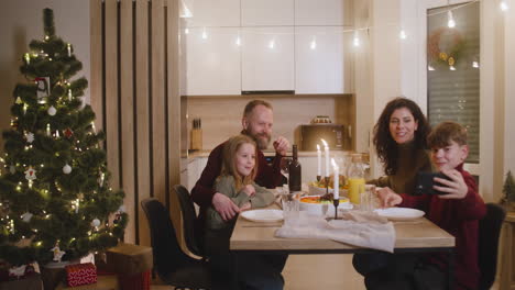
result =
M449 27L449 21L456 26ZM478 164L480 133L480 2L427 10L427 111L431 125L456 121L469 133Z

